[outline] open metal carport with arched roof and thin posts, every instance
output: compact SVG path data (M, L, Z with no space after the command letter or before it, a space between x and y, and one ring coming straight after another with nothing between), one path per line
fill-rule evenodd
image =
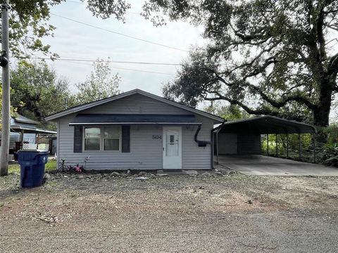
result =
M261 155L261 136L266 135L267 153L278 154L278 135L286 135L286 157L289 157L289 134L298 134L298 153L301 157L301 134L312 134L313 162L315 162L315 126L274 116L252 117L225 122L215 129L215 155ZM275 150L269 150L269 135L275 135ZM223 159L224 160L224 159ZM233 160L233 158L232 158Z

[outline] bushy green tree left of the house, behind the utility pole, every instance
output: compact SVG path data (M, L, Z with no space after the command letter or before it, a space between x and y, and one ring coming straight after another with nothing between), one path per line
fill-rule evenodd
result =
M70 97L68 80L59 78L44 61L22 61L11 71L11 103L20 114L42 122L42 127L54 128L44 117L65 109ZM74 102L73 102L74 103Z

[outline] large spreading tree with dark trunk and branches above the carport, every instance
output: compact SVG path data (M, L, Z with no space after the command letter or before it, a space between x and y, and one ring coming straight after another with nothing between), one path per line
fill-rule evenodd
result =
M338 1L148 0L155 25L187 20L210 41L196 48L168 98L196 105L226 100L254 115L277 115L327 126L338 91ZM309 117L310 116L310 117Z

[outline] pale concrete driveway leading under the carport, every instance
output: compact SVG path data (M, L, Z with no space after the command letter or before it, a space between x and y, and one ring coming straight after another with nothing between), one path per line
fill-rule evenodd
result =
M220 155L219 164L246 175L338 176L338 168L265 155Z

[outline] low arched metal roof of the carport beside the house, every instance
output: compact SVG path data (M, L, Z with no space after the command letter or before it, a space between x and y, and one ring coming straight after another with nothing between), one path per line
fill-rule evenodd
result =
M244 134L313 134L315 126L270 115L225 122L219 133Z

